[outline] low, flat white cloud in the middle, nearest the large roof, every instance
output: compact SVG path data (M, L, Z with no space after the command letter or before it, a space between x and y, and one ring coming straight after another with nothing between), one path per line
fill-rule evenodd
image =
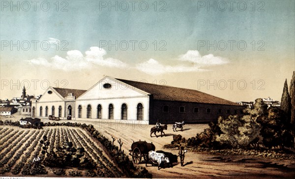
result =
M157 60L149 59L143 63L137 64L136 68L142 72L150 75L160 75L164 73L181 73L181 72L196 72L196 71L207 71L200 69L198 66L185 66L185 65L163 65Z

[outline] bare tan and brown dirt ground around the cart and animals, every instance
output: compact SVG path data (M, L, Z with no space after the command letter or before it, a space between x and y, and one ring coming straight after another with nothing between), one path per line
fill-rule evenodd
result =
M11 118L14 119L14 118ZM121 139L122 149L125 153L131 148L133 141L152 142L156 150L169 151L174 154L178 150L163 149L165 144L170 144L174 134L180 134L184 138L190 138L197 133L202 132L208 127L207 124L185 124L183 131L174 132L172 124L168 124L168 130L165 130L165 137L150 137L150 128L153 125L138 125L125 123L106 123L72 120L71 122L92 124L105 137L112 141L112 137ZM159 133L157 133L159 135ZM115 142L118 145L118 142ZM131 159L131 157L129 157ZM147 169L152 173L153 178L295 178L295 161L266 159L244 155L211 155L198 153L189 150L185 154L185 166L181 167L179 163L174 163L171 168L157 169L156 166L148 165ZM145 161L138 166L145 167Z

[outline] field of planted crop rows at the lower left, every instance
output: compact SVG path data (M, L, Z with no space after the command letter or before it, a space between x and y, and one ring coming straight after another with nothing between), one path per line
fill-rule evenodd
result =
M60 173L61 175L108 178L124 176L111 157L106 154L107 151L100 148L81 128L47 127L37 130L5 126L0 128L0 176L34 175L32 172L34 158L39 157L42 160L46 155L42 152L44 147L40 143L44 136L48 139L48 152L57 151L57 148L63 143L72 143L75 148L84 148L84 157L92 160L96 166L95 172L71 167L60 171L60 169L46 167L44 174L49 172L48 174L52 176Z

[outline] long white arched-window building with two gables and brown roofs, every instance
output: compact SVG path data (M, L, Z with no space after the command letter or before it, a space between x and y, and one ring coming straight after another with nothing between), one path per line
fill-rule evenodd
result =
M32 101L32 117L49 115L66 119L128 120L163 123L185 120L208 122L218 116L241 114L244 107L193 89L154 85L104 77L90 89L49 87Z

